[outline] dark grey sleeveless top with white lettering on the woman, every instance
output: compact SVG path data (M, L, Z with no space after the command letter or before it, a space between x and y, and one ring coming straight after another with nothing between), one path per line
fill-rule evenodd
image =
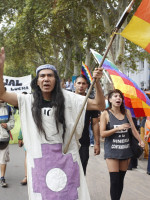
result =
M113 129L119 125L129 123L126 115L123 120L118 120L110 111L109 122L106 130ZM130 148L130 137L127 129L117 131L113 135L106 137L104 142L104 158L128 159L133 156Z

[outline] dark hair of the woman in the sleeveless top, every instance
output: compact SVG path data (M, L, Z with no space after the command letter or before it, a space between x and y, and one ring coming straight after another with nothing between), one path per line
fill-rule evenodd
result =
M122 98L122 104L121 104L121 106L120 106L120 111L121 111L121 113L124 115L125 112L126 112L125 106L124 106L124 96L123 96L123 93L122 93L120 90L118 90L118 89L112 90L112 91L110 91L110 92L108 93L109 107L108 107L107 109L109 110L109 109L112 108L112 104L111 104L111 102L110 102L109 100L110 100L110 98L112 97L112 95L113 95L114 93L119 93L120 96L121 96L121 98Z

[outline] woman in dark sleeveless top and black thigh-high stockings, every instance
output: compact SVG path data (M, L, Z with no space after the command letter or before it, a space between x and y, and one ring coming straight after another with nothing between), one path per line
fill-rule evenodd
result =
M109 107L101 114L100 134L105 138L104 157L110 174L111 200L119 200L123 191L123 182L132 151L130 148L129 128L133 135L144 146L134 123L131 113L125 110L124 97L120 90L113 90L108 94ZM130 116L130 123L126 116Z

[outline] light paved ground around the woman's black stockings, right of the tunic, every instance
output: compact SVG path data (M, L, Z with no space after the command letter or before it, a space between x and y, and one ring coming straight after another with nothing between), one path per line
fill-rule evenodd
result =
M90 147L90 159L87 167L87 184L91 200L110 200L109 172L104 160L103 144L101 154L94 156L94 148ZM124 181L121 200L150 200L150 176L146 174L147 160L138 160L138 168L129 170Z

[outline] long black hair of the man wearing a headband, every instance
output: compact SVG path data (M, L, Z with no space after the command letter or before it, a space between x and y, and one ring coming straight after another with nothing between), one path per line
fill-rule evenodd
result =
M50 107L54 106L56 108L55 120L56 120L57 131L59 132L58 123L63 124L63 139L64 139L64 135L66 131L65 104L64 104L65 98L63 96L63 93L60 87L60 80L59 80L58 74L56 71L53 71L53 72L55 76L55 87L53 91L51 92ZM33 90L33 97L34 97L34 101L32 105L32 115L40 134L44 134L45 139L48 140L46 137L45 129L43 127L43 123L42 123L41 108L43 106L43 95L42 95L42 91L40 87L37 85L37 81L38 81L38 74L31 82L31 88Z

